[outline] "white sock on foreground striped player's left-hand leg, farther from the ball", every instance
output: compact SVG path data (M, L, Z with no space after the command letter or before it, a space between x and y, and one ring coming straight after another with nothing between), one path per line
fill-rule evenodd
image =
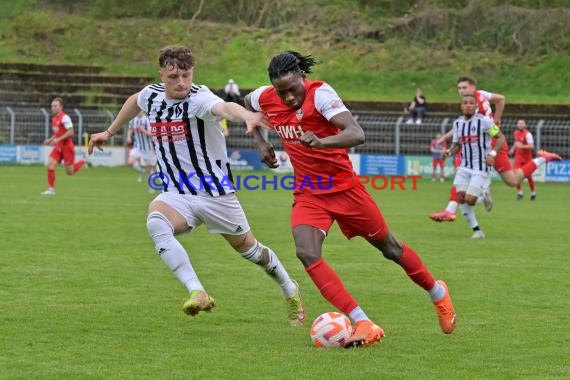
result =
M148 233L156 245L156 252L168 269L188 289L188 292L192 290L203 291L204 287L192 264L190 264L186 250L174 238L174 228L168 219L160 212L154 211L149 214L146 225Z

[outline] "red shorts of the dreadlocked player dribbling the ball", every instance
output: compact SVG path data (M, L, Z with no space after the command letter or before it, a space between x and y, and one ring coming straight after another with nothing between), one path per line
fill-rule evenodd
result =
M361 184L334 193L298 193L293 197L291 228L308 224L328 234L335 220L349 239L378 240L389 231L382 212Z

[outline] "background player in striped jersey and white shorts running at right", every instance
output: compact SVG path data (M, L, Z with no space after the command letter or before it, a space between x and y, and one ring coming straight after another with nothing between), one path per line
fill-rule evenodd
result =
M461 149L461 164L453 185L457 188L461 211L473 229L473 239L484 238L479 228L473 206L491 184L491 169L497 152L505 143L505 136L493 120L477 112L474 94L461 98L463 116L453 122L453 143L445 156L453 155ZM493 150L491 140L497 138Z

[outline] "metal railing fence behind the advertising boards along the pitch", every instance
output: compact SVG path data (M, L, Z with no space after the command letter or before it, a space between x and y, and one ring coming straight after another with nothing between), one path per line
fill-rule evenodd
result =
M83 143L85 133L105 130L114 118L107 110L67 109L75 127L74 142ZM428 155L429 143L437 132L445 133L451 128L457 115L427 117L422 124L406 124L403 116L380 114L355 114L364 129L366 143L352 149L354 153ZM511 144L516 118L503 119L501 129ZM536 149L546 149L570 157L570 119L526 119L528 129L535 139ZM253 149L253 138L244 134L245 127L239 123L228 123L230 149ZM51 115L45 108L0 107L0 144L34 145L50 137ZM269 134L269 140L276 150L282 150L281 139L276 133ZM113 137L111 144L126 143L126 128Z

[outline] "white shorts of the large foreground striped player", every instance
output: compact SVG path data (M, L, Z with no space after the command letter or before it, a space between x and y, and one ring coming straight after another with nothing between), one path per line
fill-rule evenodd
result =
M250 230L235 193L210 197L168 191L154 200L175 209L192 229L204 223L211 234L242 235Z

